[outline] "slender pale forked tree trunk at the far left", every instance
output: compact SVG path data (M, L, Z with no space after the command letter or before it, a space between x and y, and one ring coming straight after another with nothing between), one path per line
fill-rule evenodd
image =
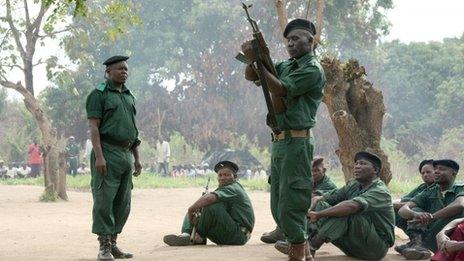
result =
M25 29L21 31L12 17L13 7L11 1L6 0L6 16L3 19L8 23L16 49L23 62L23 66L17 66L17 68L20 68L24 74L25 85L22 85L21 82L13 83L9 81L5 75L0 75L0 85L13 89L24 97L24 104L34 116L40 129L43 141L45 193L58 195L60 198L67 200L66 172L62 173L63 171L60 171L60 153L62 153L64 147L59 146L56 130L34 96L33 58L41 25L48 9L49 6L46 5L45 1L41 1L37 16L34 20L31 20L27 0L24 0ZM21 34L25 37L25 45L21 42Z

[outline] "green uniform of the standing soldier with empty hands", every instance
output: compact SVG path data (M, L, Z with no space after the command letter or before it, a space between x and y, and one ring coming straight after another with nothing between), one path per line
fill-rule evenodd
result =
M138 139L135 99L125 86L119 92L107 81L89 94L86 110L87 118L101 120L99 132L107 167L106 176L97 172L92 150L92 232L98 235L119 234L130 212L134 165L131 144Z

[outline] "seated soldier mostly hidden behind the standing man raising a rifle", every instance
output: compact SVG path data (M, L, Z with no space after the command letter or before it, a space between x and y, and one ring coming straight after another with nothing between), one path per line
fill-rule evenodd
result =
M332 182L329 176L325 175L327 169L324 166L324 158L315 156L312 162L311 173L313 174L313 195L325 196L329 195L332 191L337 189L337 185ZM309 223L309 221L308 221ZM314 232L315 224L308 224L308 235ZM274 247L281 253L288 255L290 246L286 240L278 240Z

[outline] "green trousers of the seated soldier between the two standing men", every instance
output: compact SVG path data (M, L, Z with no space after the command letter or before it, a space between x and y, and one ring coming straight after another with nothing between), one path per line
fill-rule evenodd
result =
M182 233L191 234L192 229L193 225L186 215ZM224 203L217 202L203 208L196 231L202 238L208 238L218 245L244 245L250 239L250 234L247 235L242 229L226 211Z

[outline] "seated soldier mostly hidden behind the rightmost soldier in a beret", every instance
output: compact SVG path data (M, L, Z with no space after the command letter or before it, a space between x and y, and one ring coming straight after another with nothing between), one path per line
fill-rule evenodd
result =
M413 197L415 197L416 195L419 195L419 193L424 191L426 188L434 185L435 174L434 174L434 169L433 169L433 160L423 160L419 164L419 173L421 174L421 178L424 183L420 184L415 189L413 189L411 192L401 197L400 201L393 202L393 208L395 209L395 225L399 227L401 230L403 230L404 233L406 233L406 235L408 235L410 239L410 241L404 245L395 246L395 250L400 254L401 252L403 252L403 250L412 246L414 242L411 240L411 237L408 234L409 231L407 230L407 227L408 227L407 220L402 218L398 214L398 210L402 206L406 205L406 203L409 200L411 200Z

